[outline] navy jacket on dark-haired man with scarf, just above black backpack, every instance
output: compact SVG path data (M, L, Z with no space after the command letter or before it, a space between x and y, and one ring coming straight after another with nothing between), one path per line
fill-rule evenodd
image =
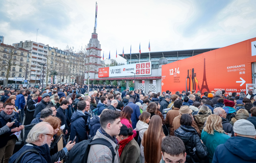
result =
M90 119L88 115L82 115L82 113L79 113L78 111L73 113L71 117L70 140L73 140L75 136L77 136L76 143L87 140L86 123L88 118Z

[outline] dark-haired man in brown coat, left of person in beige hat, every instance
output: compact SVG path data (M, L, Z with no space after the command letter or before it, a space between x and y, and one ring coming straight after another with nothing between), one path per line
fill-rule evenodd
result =
M174 101L174 108L167 112L166 119L165 119L166 120L165 124L166 124L167 127L169 127L170 136L174 136L174 130L173 130L173 127L172 127L172 122L173 122L174 118L179 115L179 109L181 107L184 107L184 106L182 106L182 101L181 100L175 100Z

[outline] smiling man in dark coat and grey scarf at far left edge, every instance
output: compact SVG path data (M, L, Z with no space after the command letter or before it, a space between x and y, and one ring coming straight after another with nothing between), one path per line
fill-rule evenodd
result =
M13 111L13 107L12 103L7 103L3 106L3 110L0 113L0 128L16 119L9 131L0 135L0 160L4 158L3 162L8 162L13 154L17 137L11 134L24 129L24 126L20 123L19 115L17 112Z

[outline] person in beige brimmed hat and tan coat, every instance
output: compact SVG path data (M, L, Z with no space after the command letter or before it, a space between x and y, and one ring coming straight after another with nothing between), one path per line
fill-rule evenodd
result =
M174 118L173 122L172 122L172 127L173 127L173 130L177 130L180 126L180 117L181 115L183 114L190 114L193 112L193 110L189 109L189 106L187 105L184 105L182 107L180 107L179 109L179 115L177 117ZM193 117L193 115L191 115ZM201 136L201 132L197 126L197 124L195 123L194 121L194 117L193 117L193 124L191 125L192 127L194 127L196 130L197 130L197 133L199 134L199 136Z

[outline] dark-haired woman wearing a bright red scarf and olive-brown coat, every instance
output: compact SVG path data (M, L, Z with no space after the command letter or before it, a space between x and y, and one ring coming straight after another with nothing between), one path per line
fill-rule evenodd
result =
M123 124L119 135L116 136L119 141L120 163L140 163L140 147L133 138L133 128L127 128Z

